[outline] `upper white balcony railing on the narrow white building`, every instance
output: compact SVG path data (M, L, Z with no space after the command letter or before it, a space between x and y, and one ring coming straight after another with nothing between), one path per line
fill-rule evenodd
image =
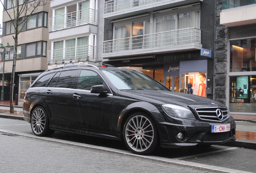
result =
M49 18L49 32L83 24L97 25L97 23L98 11L91 8L86 8L84 10Z

